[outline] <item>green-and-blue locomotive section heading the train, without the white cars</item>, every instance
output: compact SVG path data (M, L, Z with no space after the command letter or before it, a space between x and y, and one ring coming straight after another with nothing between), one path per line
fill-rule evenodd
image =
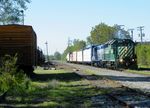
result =
M101 67L137 67L135 43L130 39L112 39L96 49L98 65Z

